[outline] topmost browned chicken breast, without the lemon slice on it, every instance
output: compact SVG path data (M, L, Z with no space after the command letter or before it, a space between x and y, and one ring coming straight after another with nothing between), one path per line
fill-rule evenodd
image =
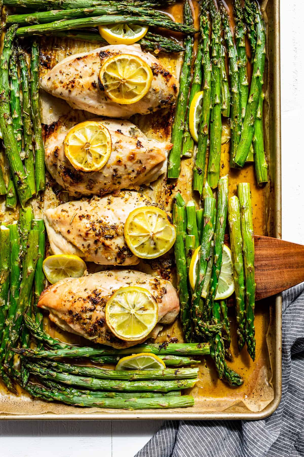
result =
M153 73L148 93L141 100L129 105L119 105L109 100L98 82L99 71L104 61L123 53L142 58ZM138 44L119 44L63 59L42 77L41 87L53 96L66 100L72 108L83 109L100 116L125 119L136 113L148 114L173 105L179 83L155 56L143 53Z

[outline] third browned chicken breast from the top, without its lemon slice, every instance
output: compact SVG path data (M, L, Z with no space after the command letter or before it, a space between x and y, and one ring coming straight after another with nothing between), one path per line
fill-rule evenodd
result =
M134 191L95 197L47 209L47 236L53 254L75 254L101 265L136 265L124 241L124 223L135 208L154 205Z

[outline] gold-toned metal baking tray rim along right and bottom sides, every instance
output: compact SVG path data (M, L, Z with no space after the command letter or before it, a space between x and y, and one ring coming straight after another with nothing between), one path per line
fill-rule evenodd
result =
M280 4L279 0L264 0L262 8L268 28L267 63L265 75L266 101L264 133L267 143L270 182L265 192L267 193L267 206L264 207L264 234L281 238L281 124L280 124ZM175 420L254 420L264 419L271 415L278 407L282 393L282 298L273 297L258 303L258 309L269 312L267 345L270 357L273 386L273 399L265 408L259 411L248 410L243 405L234 404L219 410L218 408L206 409L201 407L201 402L196 401L195 406L185 409L163 410L115 410L100 409L92 412L90 409L77 408L73 412L70 407L68 414L55 414L47 412L47 407L41 414L20 414L22 402L19 403L15 414L0 414L0 420L135 420L135 419L175 419ZM269 311L268 311L269 310ZM195 399L200 395L193 392ZM28 400L28 399L27 399ZM9 401L9 399L7 399ZM52 409L50 407L50 409Z

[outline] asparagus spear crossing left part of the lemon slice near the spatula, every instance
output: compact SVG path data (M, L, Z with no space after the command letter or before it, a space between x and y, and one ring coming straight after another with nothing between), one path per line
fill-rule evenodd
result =
M201 239L201 249L196 275L196 287L192 295L192 319L195 324L196 333L200 333L200 321L206 321L201 292L204 286L207 265L210 257L211 241L214 233L214 209L215 198L206 197L204 204L204 227Z

